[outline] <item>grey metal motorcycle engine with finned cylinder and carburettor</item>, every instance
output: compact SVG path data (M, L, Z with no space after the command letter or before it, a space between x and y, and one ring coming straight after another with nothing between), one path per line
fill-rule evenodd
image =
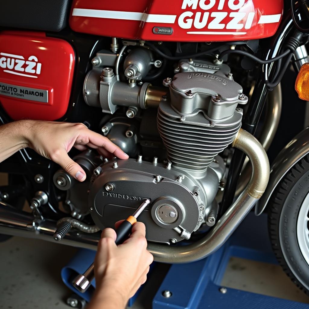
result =
M74 184L64 171L55 174L54 183L67 190L72 214L80 218L89 211L100 229L113 227L149 198L150 206L139 217L147 226L147 239L176 243L189 239L202 224L215 223L215 196L226 172L219 153L235 139L243 114L237 106L248 98L218 58L182 59L174 77L154 87L142 80L164 63L138 46L128 51L119 73L126 47L118 56L96 54L83 94L88 105L108 114L102 134L130 159L99 158L91 151L79 155L76 159L90 179L88 201L72 201L70 197L86 191L86 184Z

